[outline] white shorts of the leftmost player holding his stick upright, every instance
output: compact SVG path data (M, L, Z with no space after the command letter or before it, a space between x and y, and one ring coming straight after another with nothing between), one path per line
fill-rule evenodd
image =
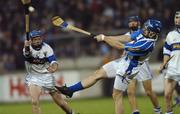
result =
M52 74L28 74L25 83L27 86L31 84L37 85L48 92L55 89L55 79Z

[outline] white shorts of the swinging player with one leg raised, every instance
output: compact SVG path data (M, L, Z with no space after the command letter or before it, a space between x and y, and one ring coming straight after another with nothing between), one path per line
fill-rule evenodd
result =
M139 72L140 64L132 66L131 60L126 57L111 61L103 66L108 77L115 77L114 88L125 91L128 83L123 81L124 77L133 79Z

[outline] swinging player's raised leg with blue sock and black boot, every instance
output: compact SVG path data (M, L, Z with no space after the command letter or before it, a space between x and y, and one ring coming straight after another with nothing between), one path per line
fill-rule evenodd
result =
M111 61L104 66L102 66L99 70L96 70L92 75L85 78L84 80L70 86L70 87L57 87L56 88L61 91L63 94L72 97L73 93L76 91L80 91L86 88L93 86L98 80L103 78L113 78L116 76L117 66L121 59L117 59L115 61Z

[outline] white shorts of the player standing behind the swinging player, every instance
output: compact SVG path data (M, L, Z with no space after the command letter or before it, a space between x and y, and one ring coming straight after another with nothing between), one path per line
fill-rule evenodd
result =
M139 73L134 77L137 81L146 81L153 78L152 71L149 67L149 62L145 61L139 70Z

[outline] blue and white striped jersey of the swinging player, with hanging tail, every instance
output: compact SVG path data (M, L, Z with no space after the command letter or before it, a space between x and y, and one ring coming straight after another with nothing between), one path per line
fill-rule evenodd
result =
M149 57L155 46L155 39L143 36L141 29L129 34L132 41L125 44L126 60L130 59L126 73L130 75L134 68ZM128 35L128 34L126 34Z

